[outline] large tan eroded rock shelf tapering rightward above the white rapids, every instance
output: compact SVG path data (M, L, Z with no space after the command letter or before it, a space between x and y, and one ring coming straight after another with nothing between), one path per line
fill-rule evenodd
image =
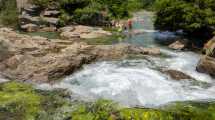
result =
M120 59L130 54L160 54L157 48L48 40L17 34L6 28L0 29L0 43L5 50L5 56L0 61L0 72L10 79L37 83L53 82L97 60Z

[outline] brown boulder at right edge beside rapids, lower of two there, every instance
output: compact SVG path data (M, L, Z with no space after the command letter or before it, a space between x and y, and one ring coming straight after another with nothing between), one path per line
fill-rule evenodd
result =
M215 58L204 56L200 59L196 70L201 73L207 73L215 76Z

